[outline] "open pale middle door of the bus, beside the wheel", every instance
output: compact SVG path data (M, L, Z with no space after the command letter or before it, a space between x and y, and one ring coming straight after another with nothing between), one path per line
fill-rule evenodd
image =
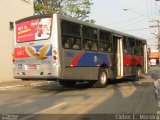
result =
M113 36L114 75L117 79L123 77L123 47L122 37Z

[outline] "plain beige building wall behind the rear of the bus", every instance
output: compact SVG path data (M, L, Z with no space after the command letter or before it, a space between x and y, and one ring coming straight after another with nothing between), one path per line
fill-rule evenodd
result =
M13 31L9 23L34 14L33 0L0 0L0 82L12 81Z

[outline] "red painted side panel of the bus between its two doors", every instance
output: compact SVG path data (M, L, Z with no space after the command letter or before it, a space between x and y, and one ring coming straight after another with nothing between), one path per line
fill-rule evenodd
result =
M125 66L136 66L141 65L143 62L142 56L132 56L132 55L124 55L123 57Z

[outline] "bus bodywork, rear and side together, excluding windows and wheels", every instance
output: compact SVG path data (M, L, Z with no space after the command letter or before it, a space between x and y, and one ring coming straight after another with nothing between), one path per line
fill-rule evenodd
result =
M34 17L32 18L34 19ZM97 80L101 67L108 69L108 78L119 79L136 75L137 67L139 66L144 73L147 72L147 46L144 40L141 40L145 44L143 56L127 55L123 53L123 37L126 34L59 14L53 14L52 19L50 38L22 43L14 42L15 78L67 79L78 81ZM62 20L75 22L81 26L88 25L96 29L110 31L112 33L113 50L105 53L85 51L83 47L80 50L63 48L61 33ZM82 39L81 41L83 41ZM83 42L81 44L83 46Z

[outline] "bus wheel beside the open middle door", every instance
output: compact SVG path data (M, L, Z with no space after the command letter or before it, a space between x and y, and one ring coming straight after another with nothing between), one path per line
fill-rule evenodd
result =
M104 87L106 87L107 82L108 82L107 71L105 68L101 68L99 70L99 74L98 74L98 81L96 81L94 86L97 88L104 88Z

